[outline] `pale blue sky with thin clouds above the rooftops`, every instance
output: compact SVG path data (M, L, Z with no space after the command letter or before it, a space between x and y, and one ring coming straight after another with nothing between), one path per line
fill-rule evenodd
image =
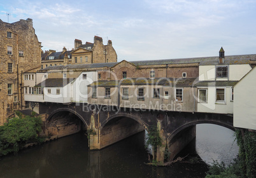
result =
M0 19L32 18L42 50L110 39L118 61L256 53L256 0L0 0Z

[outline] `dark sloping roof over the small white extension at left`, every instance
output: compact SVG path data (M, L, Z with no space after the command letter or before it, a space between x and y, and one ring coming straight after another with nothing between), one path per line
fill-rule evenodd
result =
M75 78L48 78L42 81L37 87L63 87L71 83Z

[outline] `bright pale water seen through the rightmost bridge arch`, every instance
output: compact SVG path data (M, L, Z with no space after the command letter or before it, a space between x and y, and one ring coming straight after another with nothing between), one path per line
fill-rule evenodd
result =
M218 125L199 124L196 132L197 154L209 165L213 160L229 165L238 155L234 131Z

